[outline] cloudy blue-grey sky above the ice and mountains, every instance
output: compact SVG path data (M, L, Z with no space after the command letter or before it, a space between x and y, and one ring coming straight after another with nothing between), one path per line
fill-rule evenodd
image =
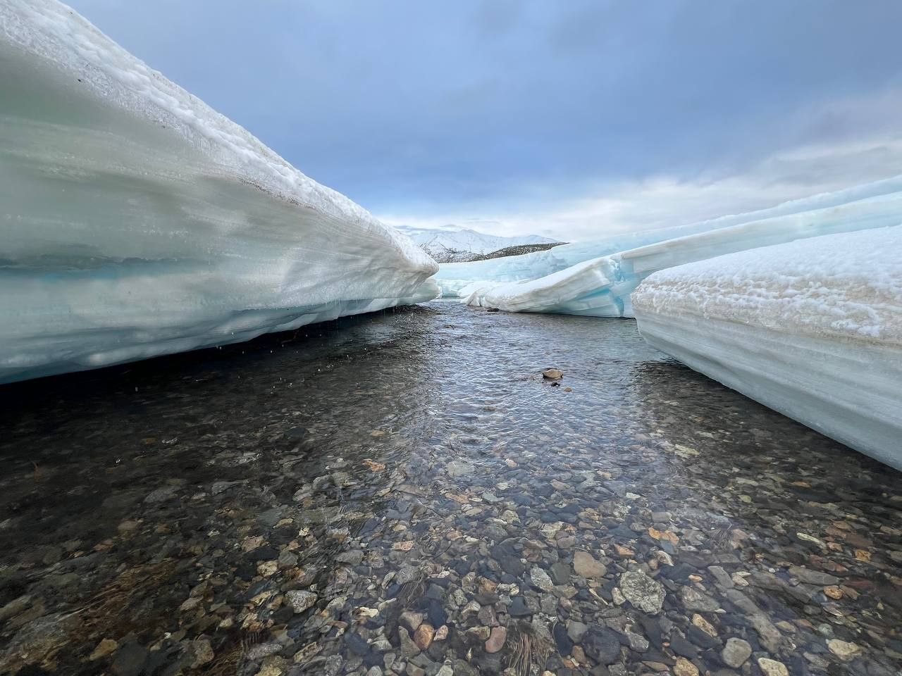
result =
M575 241L902 173L898 0L70 0L395 225Z

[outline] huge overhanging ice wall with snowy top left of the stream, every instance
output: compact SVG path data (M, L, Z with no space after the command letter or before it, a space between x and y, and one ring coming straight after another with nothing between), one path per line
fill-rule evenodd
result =
M0 4L0 382L429 300L436 263L66 5Z

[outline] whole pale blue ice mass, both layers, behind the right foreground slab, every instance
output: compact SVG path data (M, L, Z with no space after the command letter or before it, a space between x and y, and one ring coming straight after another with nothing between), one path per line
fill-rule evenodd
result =
M758 246L902 222L902 177L696 224L440 266L444 296L507 312L631 316L656 269Z

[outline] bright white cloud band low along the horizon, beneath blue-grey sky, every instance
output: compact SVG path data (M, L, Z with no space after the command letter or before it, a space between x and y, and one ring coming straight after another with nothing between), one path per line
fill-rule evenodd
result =
M592 196L518 211L476 206L437 216L377 214L393 225L446 227L485 233L541 234L562 241L689 224L740 214L799 197L832 192L902 173L902 136L894 139L814 143L775 153L747 171L719 178L665 175L599 185Z

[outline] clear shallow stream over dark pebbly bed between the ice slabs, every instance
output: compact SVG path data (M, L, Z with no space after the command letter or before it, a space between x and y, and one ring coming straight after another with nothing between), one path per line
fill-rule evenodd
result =
M435 303L0 405L0 673L902 672L902 474L628 320Z

